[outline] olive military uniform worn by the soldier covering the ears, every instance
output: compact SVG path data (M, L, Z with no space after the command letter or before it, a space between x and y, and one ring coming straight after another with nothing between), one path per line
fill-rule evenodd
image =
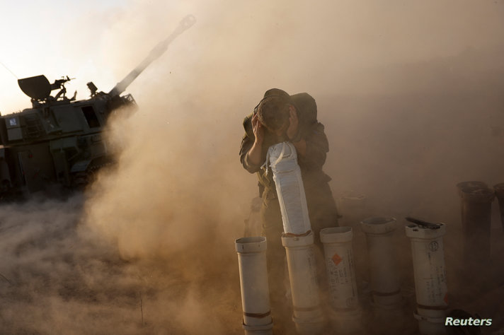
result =
M299 136L307 143L305 155L297 155L297 161L301 169L304 192L307 196L308 213L311 230L314 232L315 244L319 247L319 254L323 252L319 233L322 228L338 225L338 211L333 199L333 194L328 185L331 177L322 171L322 165L326 162L326 153L329 145L326 134L323 132L323 124L316 120L316 103L307 93L299 93L291 96L297 106L299 119ZM240 160L248 172L256 172L258 175L259 195L263 199L260 209L260 218L263 226L263 235L268 240L268 277L270 283L270 298L275 312L275 305L285 306L284 264L285 249L282 247L281 236L283 233L282 214L277 199L273 172L269 169L266 174L265 167L261 167L266 160L268 148L282 141L275 134L265 131L262 146L262 158L259 165L254 165L248 160L248 151L251 150L255 141L252 129L253 114L244 119L245 135L241 141ZM320 260L320 257L318 257ZM325 270L319 264L319 273Z

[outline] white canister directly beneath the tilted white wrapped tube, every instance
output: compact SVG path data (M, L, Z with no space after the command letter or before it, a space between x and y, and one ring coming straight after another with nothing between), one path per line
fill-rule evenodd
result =
M292 319L299 334L320 334L324 319L316 279L314 234L290 237L282 235L287 254L292 294Z

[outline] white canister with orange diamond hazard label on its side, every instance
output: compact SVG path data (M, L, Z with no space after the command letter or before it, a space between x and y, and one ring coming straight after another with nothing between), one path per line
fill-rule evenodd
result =
M320 231L332 307L329 315L338 334L362 334L352 238L351 227L324 228Z

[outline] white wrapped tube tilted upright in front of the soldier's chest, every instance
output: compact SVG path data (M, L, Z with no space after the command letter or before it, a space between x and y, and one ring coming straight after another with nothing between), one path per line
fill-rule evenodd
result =
M290 142L277 143L268 148L266 163L268 160L273 170L284 232L295 235L307 233L311 225L296 148Z

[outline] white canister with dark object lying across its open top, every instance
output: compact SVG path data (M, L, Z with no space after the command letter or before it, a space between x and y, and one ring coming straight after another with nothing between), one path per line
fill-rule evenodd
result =
M411 224L406 226L406 236L411 239L413 272L420 334L446 334L445 316L448 308L445 252L442 237L446 226L428 228Z

